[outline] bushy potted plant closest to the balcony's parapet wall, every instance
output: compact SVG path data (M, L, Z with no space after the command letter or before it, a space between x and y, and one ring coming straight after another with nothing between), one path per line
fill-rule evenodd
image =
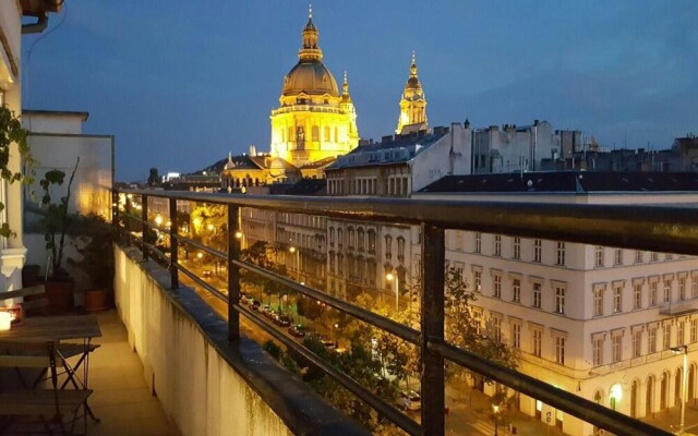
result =
M113 227L103 217L91 214L77 220L80 237L76 250L82 259L69 259L70 264L82 269L89 277L91 286L85 291L84 307L87 311L101 311L111 304L113 290Z

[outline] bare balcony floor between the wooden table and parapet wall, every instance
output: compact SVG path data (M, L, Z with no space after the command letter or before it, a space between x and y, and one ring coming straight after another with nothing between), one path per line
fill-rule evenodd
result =
M143 365L129 346L127 330L116 310L97 315L101 338L89 360L89 407L101 420L88 420L87 434L111 436L179 436L157 397L148 389Z

